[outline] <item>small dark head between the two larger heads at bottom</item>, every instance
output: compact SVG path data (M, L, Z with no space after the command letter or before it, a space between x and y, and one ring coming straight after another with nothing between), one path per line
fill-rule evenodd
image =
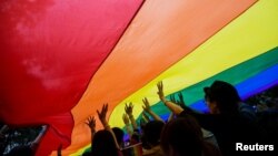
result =
M143 128L143 138L146 142L151 145L156 146L160 143L160 133L165 126L165 123L161 121L150 121L146 124Z

